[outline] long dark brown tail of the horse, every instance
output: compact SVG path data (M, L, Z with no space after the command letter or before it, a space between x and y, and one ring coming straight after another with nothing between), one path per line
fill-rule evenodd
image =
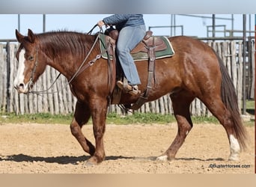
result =
M216 54L216 56L218 57L219 67L222 73L222 102L224 102L225 106L228 108L228 111L231 112L231 120L234 123L234 130L240 143L240 147L242 149L246 149L248 135L240 117L240 110L237 103L237 94L231 77L228 75L227 68L225 67L219 55Z

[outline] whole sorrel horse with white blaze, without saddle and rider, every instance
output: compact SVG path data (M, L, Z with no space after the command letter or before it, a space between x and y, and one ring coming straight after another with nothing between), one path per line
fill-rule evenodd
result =
M14 87L19 93L29 93L32 85L43 73L46 65L55 68L70 81L70 90L77 97L76 111L70 124L83 150L91 155L88 164L98 164L105 159L103 135L106 129L106 114L109 105L108 65L100 54L97 34L81 34L69 31L57 31L34 34L28 29L28 36L16 31L20 43L16 53L19 69L14 80ZM156 60L156 84L148 95L147 101L170 94L177 120L177 136L171 146L158 156L160 160L174 159L177 150L183 144L192 129L189 105L198 97L212 114L222 123L227 132L231 154L229 159L239 159L240 150L246 147L246 129L240 118L234 85L222 60L210 46L191 37L170 37L175 50L171 58ZM95 44L95 46L93 46ZM78 76L73 76L85 61L94 59L93 66L88 66ZM90 64L91 65L91 64ZM147 85L147 61L136 63L141 79L139 89ZM121 103L135 103L138 96L122 93ZM92 117L95 147L82 134L82 126ZM210 134L209 134L210 135ZM213 142L214 144L214 142Z

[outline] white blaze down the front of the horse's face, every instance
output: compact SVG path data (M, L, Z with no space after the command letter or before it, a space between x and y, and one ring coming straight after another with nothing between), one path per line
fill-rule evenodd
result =
M19 52L19 67L14 79L14 86L18 91L25 91L25 88L20 88L20 85L25 86L24 84L24 70L25 70L25 49L21 49Z

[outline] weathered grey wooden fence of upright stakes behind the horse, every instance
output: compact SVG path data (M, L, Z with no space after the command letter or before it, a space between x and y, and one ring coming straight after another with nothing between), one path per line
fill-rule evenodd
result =
M239 105L242 103L243 89L243 42L242 41L225 41L225 42L207 42L209 46L220 55L228 69L228 73L233 80L237 90ZM255 45L252 46L252 76L255 76ZM76 98L70 92L67 86L67 80L61 76L51 92L42 95L36 94L18 94L13 88L13 79L16 75L17 62L15 53L18 46L16 43L0 43L0 111L14 112L16 114L34 114L34 113L51 113L51 114L69 114L74 111ZM58 76L58 72L51 67L46 68L46 72L34 85L34 90L42 91L49 88L52 82ZM254 98L255 78L249 85L249 95ZM124 111L118 105L111 105L109 111L123 114ZM152 112L160 114L173 114L171 99L168 95L162 96L156 101L147 102L138 110L138 112ZM195 99L191 105L191 114L195 116L210 116L210 111L199 100Z

